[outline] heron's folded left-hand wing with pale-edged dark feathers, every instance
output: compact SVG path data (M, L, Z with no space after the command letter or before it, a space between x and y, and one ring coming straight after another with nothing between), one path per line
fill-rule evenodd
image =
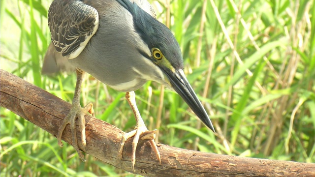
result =
M57 52L73 59L98 29L98 12L81 0L54 0L48 11L48 26Z

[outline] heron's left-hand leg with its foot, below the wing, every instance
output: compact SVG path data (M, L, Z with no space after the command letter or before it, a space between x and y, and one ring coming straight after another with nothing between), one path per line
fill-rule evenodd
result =
M72 105L69 114L63 119L63 123L60 125L58 130L58 145L63 147L63 143L61 142L61 137L63 135L63 130L67 124L70 124L71 134L72 134L72 146L78 152L79 157L85 162L84 155L80 151L78 147L78 140L76 134L76 125L75 120L78 118L80 132L81 132L81 142L83 146L86 146L86 138L85 138L85 118L84 116L89 112L94 117L93 104L89 103L84 108L81 108L80 105L80 89L83 80L83 71L76 70L77 73L77 83L75 86L74 96L72 99Z

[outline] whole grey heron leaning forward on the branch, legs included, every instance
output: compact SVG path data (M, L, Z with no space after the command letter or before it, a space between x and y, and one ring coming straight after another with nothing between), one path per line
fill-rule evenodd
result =
M155 81L177 92L198 118L213 132L213 124L190 86L183 71L180 46L147 0L54 0L48 11L51 43L43 61L42 73L75 71L76 87L71 109L57 135L58 145L70 124L72 146L85 161L78 147L75 121L78 119L81 142L86 146L85 119L94 115L93 104L80 105L83 75L89 73L105 85L126 92L136 127L122 136L118 150L133 137L131 167L135 171L135 152L139 136L149 131L136 106L134 91L147 81ZM160 155L154 140L149 141Z

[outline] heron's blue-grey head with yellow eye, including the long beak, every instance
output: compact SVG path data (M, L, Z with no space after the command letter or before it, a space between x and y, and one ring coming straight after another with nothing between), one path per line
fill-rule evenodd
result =
M139 46L137 48L138 52L158 66L155 68L163 73L164 77L161 78L163 81L158 82L165 84L168 88L174 89L198 118L212 131L215 131L207 112L183 72L184 63L181 49L171 30L135 3L131 3L130 0L117 1L131 13L134 30L146 44L141 47L147 48L143 49ZM148 51L148 48L151 54L145 52Z

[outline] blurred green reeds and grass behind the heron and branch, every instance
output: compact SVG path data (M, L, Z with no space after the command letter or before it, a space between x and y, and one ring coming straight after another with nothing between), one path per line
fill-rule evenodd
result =
M0 68L71 103L75 74L42 76L52 0L0 0ZM180 43L185 73L214 123L206 128L175 92L136 91L156 141L243 157L315 163L314 0L149 0ZM81 105L125 132L135 127L125 93L90 75ZM86 155L0 108L0 177L134 176Z

